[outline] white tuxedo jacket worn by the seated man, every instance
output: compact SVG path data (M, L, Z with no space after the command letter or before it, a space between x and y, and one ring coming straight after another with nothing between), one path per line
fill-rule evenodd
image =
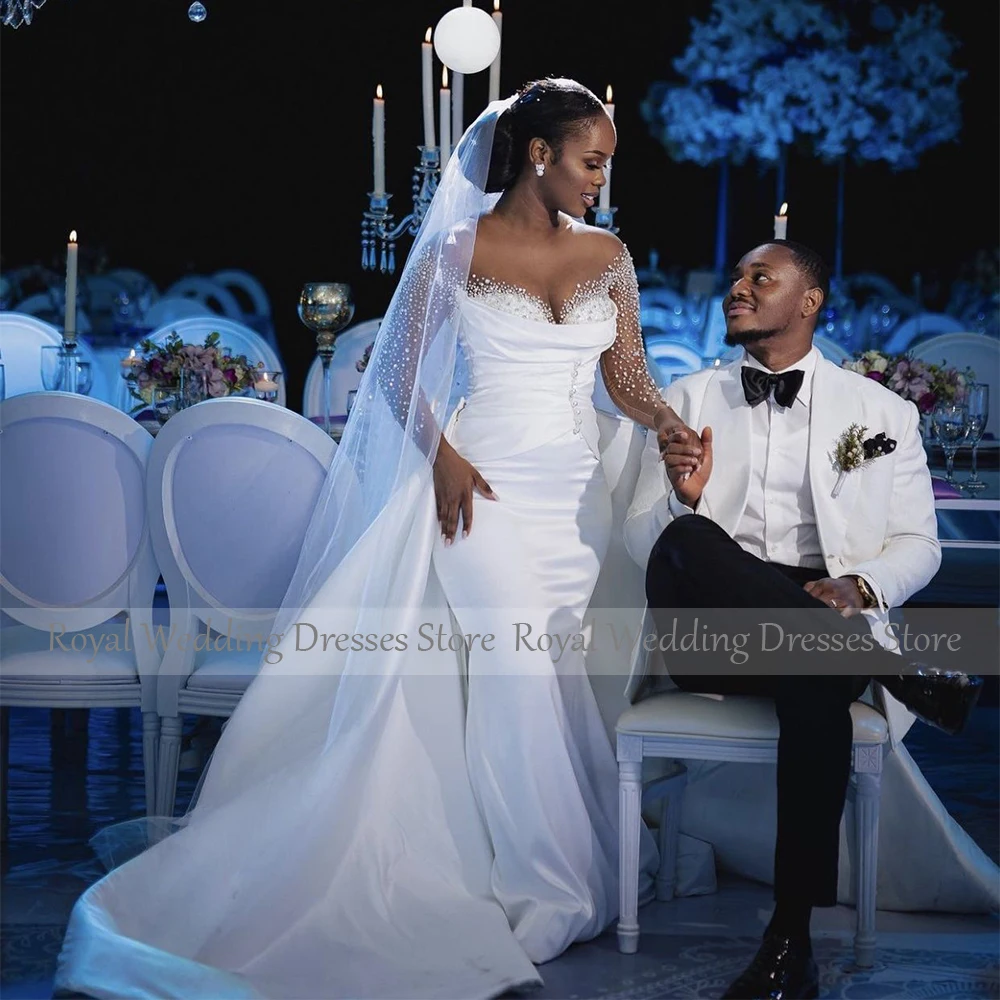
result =
M666 402L687 424L699 432L712 428L714 463L697 512L729 535L736 531L750 487L751 408L743 394L742 364L740 358L706 368L675 380L663 391ZM884 431L896 441L896 449L847 473L835 497L839 470L832 456L852 423L867 428L865 437ZM926 586L941 564L934 494L916 406L871 379L819 358L810 405L808 469L827 573L862 575L872 585L880 607L865 615L873 634L886 645L889 609ZM624 527L626 547L642 567L672 520L670 490L656 436L649 434ZM649 666L648 658L637 659L630 697ZM913 716L881 686L877 693L895 746Z

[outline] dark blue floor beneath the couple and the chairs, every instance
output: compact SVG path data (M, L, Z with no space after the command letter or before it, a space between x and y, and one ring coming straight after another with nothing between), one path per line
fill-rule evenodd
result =
M55 727L49 713L12 716L10 832L2 856L0 994L52 996L52 974L66 917L101 874L87 840L97 829L141 811L138 718L110 710ZM995 860L1000 858L998 712L977 709L961 737L914 727L907 746L952 814ZM960 761L961 766L956 767ZM182 775L180 798L193 787ZM535 1000L667 1000L718 997L759 943L770 890L720 879L712 896L653 903L641 914L636 955L621 955L613 933L571 948L543 966ZM880 913L877 964L851 959L853 911L817 911L813 919L821 995L868 998L1000 997L996 915ZM513 996L513 995L512 995Z

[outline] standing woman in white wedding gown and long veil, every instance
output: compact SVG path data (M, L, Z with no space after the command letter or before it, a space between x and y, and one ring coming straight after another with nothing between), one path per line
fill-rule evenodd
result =
M577 221L615 142L564 79L462 138L280 641L180 829L78 901L58 988L492 997L616 917L617 767L579 642L611 524L597 365L628 416L684 425L646 371L627 250Z

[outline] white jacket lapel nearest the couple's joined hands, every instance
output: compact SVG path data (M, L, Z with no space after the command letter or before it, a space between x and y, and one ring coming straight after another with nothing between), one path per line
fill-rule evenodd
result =
M750 406L743 394L740 364L720 368L705 390L698 430L712 428L712 475L705 504L729 535L736 533L750 488Z

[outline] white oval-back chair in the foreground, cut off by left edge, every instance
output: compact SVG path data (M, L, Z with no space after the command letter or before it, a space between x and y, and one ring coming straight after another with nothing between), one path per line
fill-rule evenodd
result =
M159 735L159 657L149 642L159 571L145 495L152 443L134 420L85 396L0 403L0 594L17 622L0 629L4 732L13 706L138 707L149 815ZM5 788L6 768L4 759Z

